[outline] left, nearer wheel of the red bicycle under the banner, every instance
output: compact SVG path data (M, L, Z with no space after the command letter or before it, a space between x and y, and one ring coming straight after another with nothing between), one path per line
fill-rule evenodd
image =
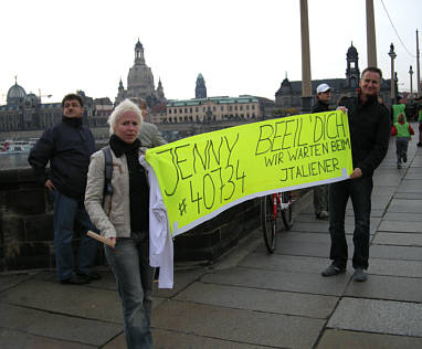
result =
M276 204L276 203L275 203ZM264 234L264 242L266 250L273 253L276 247L276 232L277 232L277 208L274 210L273 195L261 198L261 224ZM275 211L275 214L274 214Z

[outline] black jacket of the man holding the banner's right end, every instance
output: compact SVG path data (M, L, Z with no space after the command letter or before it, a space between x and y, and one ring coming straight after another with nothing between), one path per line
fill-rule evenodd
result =
M365 104L360 97L345 97L340 105L348 109L354 168L360 168L365 177L372 176L387 155L390 140L389 112L376 97Z

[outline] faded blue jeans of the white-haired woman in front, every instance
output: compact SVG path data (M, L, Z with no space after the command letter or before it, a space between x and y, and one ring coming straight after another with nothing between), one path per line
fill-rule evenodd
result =
M152 349L150 320L155 268L149 266L148 232L117 239L115 248L104 246L122 300L128 349Z

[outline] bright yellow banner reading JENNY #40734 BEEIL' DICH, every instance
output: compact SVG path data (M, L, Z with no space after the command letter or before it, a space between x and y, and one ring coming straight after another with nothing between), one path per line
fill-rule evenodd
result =
M347 114L247 124L148 149L175 235L264 194L335 182L352 171Z

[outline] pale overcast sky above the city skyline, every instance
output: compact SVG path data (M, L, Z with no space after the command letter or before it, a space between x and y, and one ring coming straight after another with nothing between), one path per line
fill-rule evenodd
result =
M383 0L404 46L373 3L378 65L390 78L393 42L399 89L410 89L410 65L415 89L422 1ZM302 78L299 0L2 0L0 10L0 104L15 75L27 93L53 95L43 102L76 89L114 102L138 38L169 99L193 98L199 73L208 96L274 99L286 74ZM308 14L312 78L344 78L351 42L366 67L365 0L308 0Z

